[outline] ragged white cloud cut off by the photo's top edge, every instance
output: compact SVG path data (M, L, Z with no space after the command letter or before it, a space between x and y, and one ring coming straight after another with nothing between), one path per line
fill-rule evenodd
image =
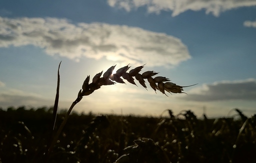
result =
M145 6L149 13L172 11L176 16L187 10L198 11L205 9L205 13L218 16L221 12L238 7L255 6L256 0L107 0L112 7L124 8L130 11L132 8Z

